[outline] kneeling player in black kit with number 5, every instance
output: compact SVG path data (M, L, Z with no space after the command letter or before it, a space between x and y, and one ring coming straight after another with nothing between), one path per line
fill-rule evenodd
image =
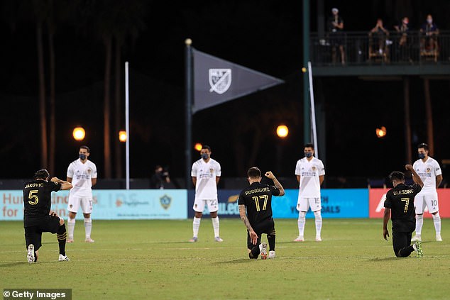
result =
M25 241L28 262L38 261L38 250L40 248L42 233L55 234L60 247L59 261L67 261L65 255L65 241L67 232L64 220L50 211L52 191L60 189L72 189L70 182L53 177L48 182L47 170L39 170L34 175L32 182L27 182L23 187L23 227L25 228Z

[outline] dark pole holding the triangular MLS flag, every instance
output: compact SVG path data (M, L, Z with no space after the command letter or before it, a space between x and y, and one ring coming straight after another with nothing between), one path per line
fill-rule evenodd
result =
M185 169L185 180L186 189L192 188L191 180L191 163L192 163L192 91L193 91L193 80L192 80L192 40L187 38L185 40L186 50L185 50L185 70L186 70L186 82L185 82L185 92L186 92L186 169Z

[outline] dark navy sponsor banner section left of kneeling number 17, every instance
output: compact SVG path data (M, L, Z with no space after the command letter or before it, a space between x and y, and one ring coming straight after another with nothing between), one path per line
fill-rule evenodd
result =
M239 218L238 197L241 190L238 189L219 189L217 197L219 198L219 211L217 214L220 218ZM188 193L187 199L187 216L194 218L194 199L195 191L191 189ZM205 206L204 215L209 216L208 206Z

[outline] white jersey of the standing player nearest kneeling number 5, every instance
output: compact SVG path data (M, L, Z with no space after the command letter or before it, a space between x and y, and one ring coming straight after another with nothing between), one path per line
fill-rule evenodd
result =
M71 196L92 198L92 178L97 178L97 167L94 162L80 159L74 160L67 168L67 177L72 178Z

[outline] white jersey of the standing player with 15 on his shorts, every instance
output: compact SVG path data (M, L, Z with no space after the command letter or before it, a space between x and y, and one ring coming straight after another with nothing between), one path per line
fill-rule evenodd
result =
M300 175L300 197L320 198L319 176L325 174L324 163L316 157L308 161L306 157L297 161L295 174Z

